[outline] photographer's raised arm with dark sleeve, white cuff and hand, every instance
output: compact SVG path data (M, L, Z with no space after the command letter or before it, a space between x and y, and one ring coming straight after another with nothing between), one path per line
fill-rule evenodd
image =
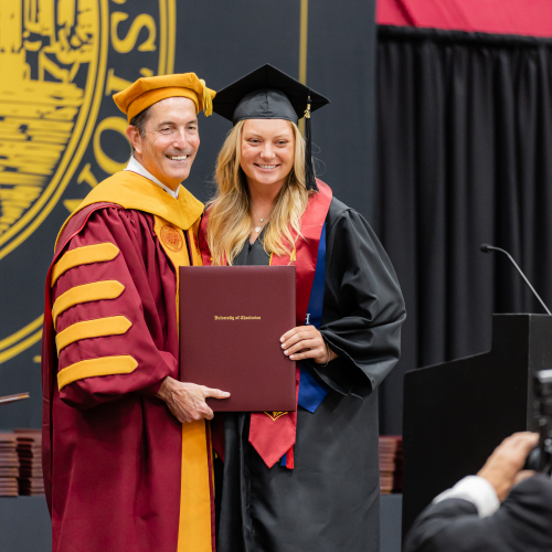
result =
M538 438L508 437L477 476L436 497L414 522L405 552L552 550L552 481L521 471Z

